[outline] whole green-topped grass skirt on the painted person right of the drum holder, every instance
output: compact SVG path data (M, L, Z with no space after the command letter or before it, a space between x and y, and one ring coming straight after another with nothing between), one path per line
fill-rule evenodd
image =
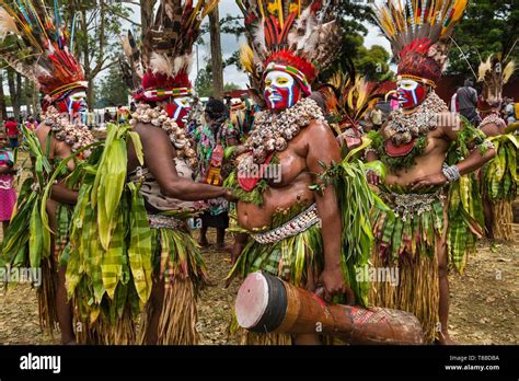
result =
M391 199L388 206L393 208ZM374 268L397 268L399 284L373 281L370 303L413 313L422 323L426 343L437 335L439 322L438 240L443 232L443 205L439 198L419 212L399 216L373 208Z

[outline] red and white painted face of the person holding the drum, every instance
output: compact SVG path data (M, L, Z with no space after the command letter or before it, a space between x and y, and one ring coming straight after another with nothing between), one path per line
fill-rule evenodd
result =
M289 73L270 71L265 78L264 96L269 109L282 111L299 101L301 88Z

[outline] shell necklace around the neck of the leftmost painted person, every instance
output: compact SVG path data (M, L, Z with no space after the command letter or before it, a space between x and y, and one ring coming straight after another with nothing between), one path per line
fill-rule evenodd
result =
M60 113L54 106L47 108L43 119L45 125L50 127L55 138L70 146L73 153L95 142L95 138L89 127L79 119L71 120L69 114ZM85 150L83 157L86 159L91 153L91 150Z

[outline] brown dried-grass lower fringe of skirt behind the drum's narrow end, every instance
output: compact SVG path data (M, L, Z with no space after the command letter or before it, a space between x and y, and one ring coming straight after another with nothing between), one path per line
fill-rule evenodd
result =
M387 266L376 252L372 262L374 268ZM391 286L389 281L373 281L370 304L413 313L422 323L425 343L430 344L437 338L439 322L437 255L434 258L424 255L407 256L399 264L399 286Z

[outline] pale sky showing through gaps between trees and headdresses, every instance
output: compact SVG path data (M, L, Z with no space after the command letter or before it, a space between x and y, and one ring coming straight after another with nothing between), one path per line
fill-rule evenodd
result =
M134 10L134 19L137 22L140 22L140 12L138 10L138 7L129 5ZM220 0L220 18L224 18L226 15L240 15L240 9L238 8L235 0ZM128 22L123 23L125 28L130 27L130 24ZM365 37L365 45L366 47L371 47L372 45L381 45L383 46L388 51L391 51L390 44L385 38L383 38L380 35L380 32L377 27L374 27L371 24L366 23L365 24L366 28L368 30L368 35ZM210 59L210 46L209 46L209 35L203 36L205 41L205 45L200 45L198 47L198 66L200 69L205 67L205 62ZM221 35L221 47L222 47L222 56L223 60L228 59L235 50L239 49L239 46L241 43L244 42L244 37L242 37L240 41L237 41L237 37L233 35L229 34L222 34ZM197 65L196 65L196 55L195 55L195 62L193 65L192 73L191 73L191 79L193 83L195 82L196 79L196 71L197 71ZM238 84L241 89L246 89L246 84L249 82L247 76L244 71L240 70L235 66L230 66L227 67L223 71L223 82L226 83L235 83Z

